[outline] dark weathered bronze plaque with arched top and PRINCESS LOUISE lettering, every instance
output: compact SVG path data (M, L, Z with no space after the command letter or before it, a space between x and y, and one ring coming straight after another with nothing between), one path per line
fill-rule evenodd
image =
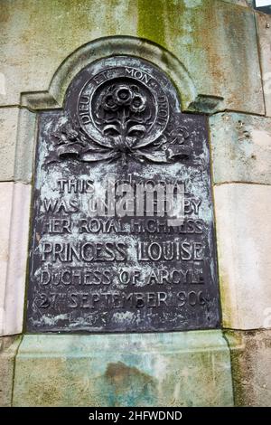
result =
M154 65L79 72L39 118L28 331L220 326L207 139Z

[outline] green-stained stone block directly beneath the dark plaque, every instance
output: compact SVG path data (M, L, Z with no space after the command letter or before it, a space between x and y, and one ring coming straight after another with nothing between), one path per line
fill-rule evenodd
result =
M218 330L24 335L16 358L14 406L232 404L229 348Z

